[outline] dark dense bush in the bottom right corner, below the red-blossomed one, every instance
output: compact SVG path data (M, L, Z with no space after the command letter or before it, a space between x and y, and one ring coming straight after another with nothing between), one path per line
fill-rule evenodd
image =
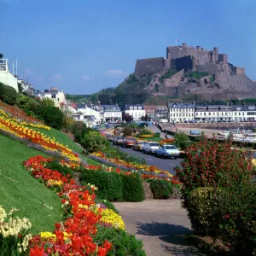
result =
M256 187L199 188L189 197L189 218L200 235L220 238L235 255L256 253ZM234 255L233 254L233 255Z

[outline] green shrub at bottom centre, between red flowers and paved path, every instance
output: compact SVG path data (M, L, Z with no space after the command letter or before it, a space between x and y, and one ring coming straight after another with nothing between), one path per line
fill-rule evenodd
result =
M146 256L143 242L127 234L125 230L99 227L94 242L102 246L106 240L113 243L112 249L108 252L109 256Z

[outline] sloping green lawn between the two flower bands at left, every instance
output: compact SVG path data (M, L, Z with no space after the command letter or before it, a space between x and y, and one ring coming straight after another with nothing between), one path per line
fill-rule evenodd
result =
M59 196L31 177L22 165L37 154L44 155L0 135L0 205L6 211L20 209L17 216L30 219L32 234L52 231L63 219Z

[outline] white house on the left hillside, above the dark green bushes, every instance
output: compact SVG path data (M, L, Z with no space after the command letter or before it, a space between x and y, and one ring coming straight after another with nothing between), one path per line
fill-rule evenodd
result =
M62 90L58 90L56 87L50 87L50 90L39 91L37 96L40 99L49 98L55 102L56 108L63 108L66 106L66 97Z

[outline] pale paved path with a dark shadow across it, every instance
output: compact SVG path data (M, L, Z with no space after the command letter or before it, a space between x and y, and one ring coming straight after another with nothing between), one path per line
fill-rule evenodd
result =
M148 256L201 255L184 235L191 232L187 212L180 200L116 202L126 230L143 240Z

